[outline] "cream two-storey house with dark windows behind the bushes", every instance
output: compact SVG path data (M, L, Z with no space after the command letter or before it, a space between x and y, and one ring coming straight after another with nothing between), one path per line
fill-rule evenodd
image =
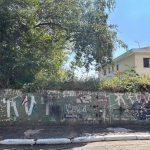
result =
M102 69L100 78L112 78L129 67L134 67L139 75L150 75L150 46L131 49L115 58L113 62L112 66Z

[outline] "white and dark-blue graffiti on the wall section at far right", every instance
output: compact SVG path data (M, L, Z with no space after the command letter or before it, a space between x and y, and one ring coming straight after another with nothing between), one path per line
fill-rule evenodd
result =
M149 93L115 93L114 95L111 96L110 104L110 116L113 120L140 122L150 120Z

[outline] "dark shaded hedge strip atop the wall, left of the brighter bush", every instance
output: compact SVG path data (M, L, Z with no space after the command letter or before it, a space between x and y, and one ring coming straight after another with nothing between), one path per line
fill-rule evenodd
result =
M61 80L36 80L32 84L25 84L23 86L24 91L36 91L36 90L99 90L99 79L88 78L88 79L77 79L76 77L69 75Z

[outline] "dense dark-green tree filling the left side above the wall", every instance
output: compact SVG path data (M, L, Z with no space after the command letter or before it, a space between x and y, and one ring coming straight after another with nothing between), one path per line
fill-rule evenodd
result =
M21 88L41 72L57 77L66 61L64 37L34 27L40 2L0 2L0 88Z

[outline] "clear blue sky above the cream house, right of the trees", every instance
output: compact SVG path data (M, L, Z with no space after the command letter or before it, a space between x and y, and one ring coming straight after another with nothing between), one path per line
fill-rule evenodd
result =
M109 15L108 24L118 25L118 38L129 49L150 45L150 0L116 0L116 8ZM135 42L137 41L137 42ZM126 52L117 48L114 57Z

